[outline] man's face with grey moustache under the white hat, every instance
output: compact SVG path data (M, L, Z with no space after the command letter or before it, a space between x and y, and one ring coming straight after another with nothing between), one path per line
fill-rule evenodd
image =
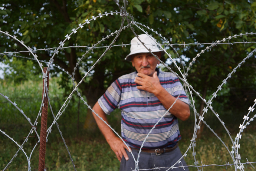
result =
M154 52L154 54L159 58L161 56L161 52ZM138 73L148 76L153 76L157 64L160 63L151 53L137 53L132 56L131 61Z

